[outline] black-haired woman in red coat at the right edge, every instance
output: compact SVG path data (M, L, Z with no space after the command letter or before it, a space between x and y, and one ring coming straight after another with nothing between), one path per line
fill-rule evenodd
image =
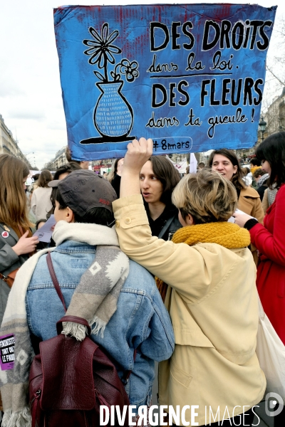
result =
M248 215L234 214L239 226L249 230L259 250L257 290L277 334L285 344L285 132L277 132L257 147L261 169L269 174L269 189L278 189L264 217L264 226Z

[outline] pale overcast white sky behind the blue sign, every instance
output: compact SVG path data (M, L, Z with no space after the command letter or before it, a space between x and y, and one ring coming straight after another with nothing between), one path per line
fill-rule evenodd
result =
M191 4L198 1L66 1L67 4ZM202 3L247 4L246 1ZM252 1L252 3L255 3ZM276 23L285 16L285 1L256 2L278 5ZM19 147L33 164L42 168L58 149L67 144L66 121L61 98L58 56L53 31L54 0L0 0L0 114ZM269 55L274 51L273 32ZM33 154L34 153L34 154Z

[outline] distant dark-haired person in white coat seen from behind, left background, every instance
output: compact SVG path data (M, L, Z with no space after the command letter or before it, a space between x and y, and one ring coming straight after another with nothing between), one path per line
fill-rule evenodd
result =
M51 210L51 188L48 186L48 182L53 179L51 172L48 169L41 171L40 177L38 178L38 186L33 191L31 196L31 210L36 215L36 221L41 218L46 218L46 214Z

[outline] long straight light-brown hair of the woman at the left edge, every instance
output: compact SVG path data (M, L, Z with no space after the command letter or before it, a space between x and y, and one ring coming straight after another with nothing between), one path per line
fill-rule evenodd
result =
M27 198L23 179L29 170L22 160L9 154L0 154L0 221L12 228L28 230Z

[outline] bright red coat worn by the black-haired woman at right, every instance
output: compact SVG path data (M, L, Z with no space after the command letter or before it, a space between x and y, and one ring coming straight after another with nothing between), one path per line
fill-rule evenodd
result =
M266 315L285 344L285 184L276 194L274 204L249 231L259 250L257 289Z

